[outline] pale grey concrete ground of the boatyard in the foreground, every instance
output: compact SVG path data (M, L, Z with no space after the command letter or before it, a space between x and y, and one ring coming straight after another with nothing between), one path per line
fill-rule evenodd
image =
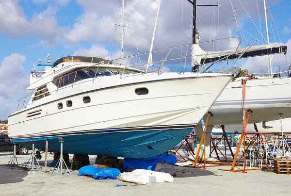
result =
M70 176L53 176L42 171L26 171L23 167L6 166L12 154L0 153L0 195L3 196L178 196L205 195L213 196L290 196L291 175L275 174L273 170L255 170L247 173L220 171L230 166L209 167L207 169L176 166L177 178L173 183L149 183L136 185L120 180L94 180L77 176L72 171ZM44 165L42 154L41 165ZM48 155L49 163L53 155ZM18 155L19 163L26 163L28 155ZM70 156L72 158L72 156ZM96 156L90 156L90 163ZM70 170L71 171L71 170ZM115 185L125 185L115 187Z

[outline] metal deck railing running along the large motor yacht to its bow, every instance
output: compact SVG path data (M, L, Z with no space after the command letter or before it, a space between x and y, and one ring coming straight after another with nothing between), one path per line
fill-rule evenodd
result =
M238 46L236 47L236 49L233 51L233 52L231 52L231 53L227 53L228 55L226 56L226 57L224 57L224 58L222 58L222 59L220 59L220 60L217 60L217 61L215 61L215 62L212 62L212 64L211 65L213 65L213 64L215 64L215 63L217 63L217 62L219 62L219 61L226 61L227 60L227 58L228 58L228 56L230 56L230 55L233 55L233 54L238 54L238 49L240 48L240 44L241 44L241 42L242 42L242 38L241 37L238 37L238 36L233 36L233 37L227 37L227 38L222 38L222 39L218 39L218 40L212 40L212 41L206 41L206 42L200 42L199 43L199 45L202 45L202 44L209 44L209 48L208 48L208 51L206 52L206 54L197 54L197 55L192 55L192 54L188 54L188 55L186 55L186 56L184 56L184 57L175 57L175 50L176 49L178 49L178 50L180 50L180 49L182 49L183 47L185 47L186 49L188 48L188 47L192 47L193 46L193 44L188 44L188 45L183 45L183 46L177 46L177 47L172 47L172 48L167 48L167 49L159 49L159 50L155 50L155 51L153 51L152 52L152 54L156 54L155 56L158 56L159 55L159 52L160 52L160 55L161 55L161 53L162 53L162 55L164 55L165 57L164 58L162 58L162 59L160 59L160 60L157 60L157 61L154 61L154 62L151 62L151 63L144 63L144 64L134 64L134 63L130 63L130 60L132 60L132 59L134 59L135 57L143 57L143 55L146 55L146 56L144 56L144 57L146 57L146 58L141 58L141 59L147 59L147 56L148 56L148 54L150 53L150 52L146 52L146 53L143 53L143 54L138 54L138 55L132 55L132 56L129 56L129 57L125 57L124 58L124 60L126 60L126 61L124 61L125 62L125 65L124 66L120 66L120 70L122 70L122 72L120 72L120 73L118 73L118 74L120 74L120 79L122 79L122 78L127 78L127 77L129 77L129 76L132 76L133 74L132 73L128 73L128 72L126 72L126 70L135 70L135 73L137 73L137 72L139 72L140 74L142 74L142 75L144 75L144 74L158 74L158 75L161 75L163 72L164 72L164 70L167 70L167 71L169 71L168 69L166 69L166 68L163 68L163 65L175 65L175 63L171 63L171 62L175 62L175 61L177 61L177 60L185 60L185 63L186 63L186 60L187 59L189 59L189 58L192 58L192 57L197 57L197 56L202 56L202 57L204 57L204 58L206 58L207 57L207 55L209 54L209 52L210 52L210 49L211 49L211 47L213 46L213 43L214 42L216 42L216 41L220 41L220 40L226 40L226 39L239 39L239 43L238 43ZM253 44L254 44L255 42L253 42L252 44L250 44L250 46L249 47L251 47ZM232 63L230 62L230 63L228 63L228 66L233 66L233 65L235 65L235 63L237 62L237 60L242 56L242 54L247 50L247 49L249 49L249 48L246 48L246 49L244 49L244 51L240 51L240 54L238 54L237 55L237 59L235 59ZM173 54L174 53L174 54ZM215 53L215 52L211 52L211 54L213 55L213 54L220 54L221 52L220 51L218 51L217 53ZM54 92L58 92L58 91L60 91L60 90L65 90L65 89L67 89L67 88L74 88L74 86L76 85L76 82L78 82L78 85L80 85L81 83L84 83L84 82L96 82L97 80L98 80L98 82L100 82L101 80L102 80L102 76L98 76L97 74L98 74L98 70L100 69L100 65L105 65L105 64L107 64L107 63L109 63L109 62L113 62L113 65L114 64L118 64L118 65L120 65L119 63L116 63L116 62L119 62L121 60L121 58L119 58L119 59L116 59L116 60L110 60L110 61L105 61L105 62L100 62L100 63L96 63L96 64L93 64L93 65L91 65L91 66L88 66L88 67L83 67L83 68L80 68L80 65L82 65L82 63L80 62L79 64L74 64L74 65L68 65L68 66L65 66L65 67L63 67L61 70L62 71L64 71L64 70L66 70L66 69L68 69L69 67L70 67L70 69L73 69L74 67L79 67L78 68L78 70L76 70L76 71L73 71L73 72L70 72L69 74L74 74L74 76L73 76L73 78L74 78L74 80L73 80L73 82L72 83L70 83L70 84L68 84L68 85L64 85L64 86L61 86L60 85L60 83L61 83L61 78L55 78L54 80L52 80L52 81L49 81L49 82L47 82L47 83L45 83L45 84L42 84L42 85L47 85L47 87L46 88L48 88L48 84L49 83L51 83L51 82L53 82L53 83L57 83L57 82L55 82L55 81L57 81L57 80L59 80L58 81L58 83L56 84L56 88L55 89L49 89L49 94L52 94L52 93L54 93ZM157 65L157 66L155 66L155 65ZM144 67L145 66L154 66L156 69L154 69L153 71L150 71L150 72L145 72L145 71L143 71L143 69L144 69ZM224 67L225 67L225 64L223 65ZM86 78L86 79L89 79L89 80L77 80L77 73L78 73L78 71L84 71L84 72L86 72L86 70L85 69L88 69L88 68L97 68L97 70L96 70L96 72L95 72L95 75L94 75L94 77L93 78ZM117 66L117 67L119 67L119 66ZM204 68L205 67L205 68ZM203 70L203 68L204 68L204 71L202 71ZM110 70L110 68L108 68L109 70ZM201 68L201 72L205 72L207 70L207 67L206 67L206 65L202 65L202 68ZM222 69L221 69L222 70ZM58 71L56 71L56 72L53 72L52 74L53 75L57 75L56 73L59 73L60 72L60 70L58 70ZM184 73L185 71L182 71L181 73ZM65 74L68 74L67 72L66 73L64 73L63 75L65 75ZM116 73L113 73L112 75L118 75L118 74L116 74ZM51 77L52 75L51 74L49 74L49 76ZM108 76L108 75L107 75ZM48 76L46 76L46 77L48 77ZM32 104L34 101L36 101L36 100L33 100L33 98L32 98L32 95L34 95L35 94L35 92L36 92L36 90L34 90L32 93L30 93L29 95L27 95L27 96L25 96L25 97L23 97L23 98L20 98L19 99L19 101L18 101L18 105L17 105L17 111L18 110L20 110L20 109L23 109L23 108L25 108L25 107L27 107L29 104ZM28 98L28 97L31 97L31 98ZM44 97L46 97L46 93L45 93L45 95L44 95ZM22 102L22 101L23 102ZM37 99L38 100L38 99ZM27 105L26 105L26 103L28 103Z

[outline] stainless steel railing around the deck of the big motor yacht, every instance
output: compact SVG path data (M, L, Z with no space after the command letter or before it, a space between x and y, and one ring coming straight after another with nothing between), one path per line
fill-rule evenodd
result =
M49 94L52 94L52 93L55 93L55 92L58 92L59 91L59 89L61 88L62 90L64 90L64 89L66 89L66 88L74 88L74 86L76 85L76 82L78 82L78 84L81 84L81 83L84 83L84 82L96 82L96 80L97 80L97 78L99 79L99 81L102 79L102 77L99 77L99 76L97 76L97 73L98 73L98 70L99 70L99 67L100 67L100 65L101 66L103 66L103 65L105 65L105 67L106 67L106 65L117 65L116 66L116 68L120 68L120 69L123 69L123 71L121 72L121 73L119 73L120 74L120 79L122 79L122 78L126 78L126 77L129 77L129 76L131 76L132 74L130 74L130 73L125 73L125 70L126 69L128 69L128 68L134 68L134 69L136 69L140 74L146 74L146 72L145 71L143 71L143 69L144 69L144 67L145 67L145 65L152 65L152 66L154 66L154 65L159 65L158 66L158 68L157 69L155 69L155 70L153 70L153 71L151 71L151 72L147 72L147 74L149 74L149 73L157 73L158 75L160 75L160 74L162 74L162 66L163 65L165 65L165 63L168 63L168 62L171 62L171 61L175 61L175 60L181 60L181 59L189 59L189 58L192 58L192 57L197 57L197 56L203 56L204 58L206 58L207 56L208 56L208 54L209 54L209 52L210 52L210 49L211 49L211 47L213 46L213 43L214 42L217 42L217 41L222 41L222 40L227 40L227 39L239 39L239 43L238 43L238 45L237 45L237 47L236 47L236 49L235 49L235 51L233 52L233 53L231 53L231 54L229 54L228 56L230 56L230 55L233 55L233 54L237 54L238 53L238 49L240 48L240 45L241 45L241 43L242 43L242 38L241 37L238 37L238 36L233 36L233 37L227 37L227 38L222 38L222 39L218 39L218 40L212 40L212 41L206 41L206 42L200 42L199 43L199 45L204 45L204 44L209 44L209 48L208 48L208 51L207 51L207 53L206 53L206 55L205 54L200 54L200 55L189 55L189 54L186 54L186 56L184 56L184 57L174 57L175 56L175 49L182 49L182 48L186 48L186 47L192 47L193 45L192 44L188 44L188 45L183 45L183 46L176 46L176 47L171 47L171 48L167 48L167 49L159 49L159 50L155 50L155 51L153 51L153 52L151 52L152 54L153 54L153 56L159 56L159 55L161 55L161 53L162 54L166 54L165 55L165 57L164 58L162 58L162 59L160 59L160 60L157 60L157 61L155 61L155 62L151 62L151 63L144 63L144 64L141 64L141 65L135 65L135 64L130 64L130 61L133 59L133 58L135 58L135 57L142 57L142 56L146 56L146 55L148 55L150 52L146 52L146 53L143 53L143 54L137 54L137 55L132 55L132 56L129 56L129 57L125 57L125 58L123 58L123 60L126 60L126 61L124 61L125 62L125 65L124 66L118 66L119 64L118 63L116 63L116 62L119 62L122 58L118 58L118 59L115 59L115 60L111 60L111 61L106 61L106 62L100 62L100 63L97 63L97 64L91 64L90 66L88 66L88 67L84 67L84 68L80 68L80 65L82 65L82 63L76 63L76 62L73 62L74 63L74 65L67 65L67 66L65 66L65 67L62 67L61 69L59 69L59 70L57 70L57 71L54 71L54 72L52 72L51 74L48 74L47 76L45 76L45 77L42 77L41 79L39 79L39 80L43 80L43 79L45 79L45 78L47 78L47 77L52 77L52 76L57 76L58 75L58 73L60 73L60 75L59 76L61 76L62 74L61 73L67 73L67 71L66 70L71 70L71 69L73 69L73 68L80 68L79 70L76 70L75 72L72 72L72 73L70 73L70 74L74 74L75 73L75 76L74 76L74 80L73 80L73 82L72 83L69 83L68 85L66 85L66 86L60 86L60 82L61 82L61 80L62 80L62 77L61 78L59 78L59 83L58 83L58 85L56 86L56 89L55 90L53 90L53 91L49 91ZM254 45L254 43L255 42L253 42L253 43L251 43L250 45L249 45L249 47L247 48L247 49L249 49L251 46L253 46ZM237 59L235 59L233 62L234 63L228 63L228 65L227 66L234 66L235 65L235 63L237 62L237 60L242 56L242 54L244 53L244 52L246 52L247 51L247 49L245 49L245 51L240 51L240 55L238 55L238 57L237 57ZM174 53L174 54L173 54ZM213 52L211 52L211 54L213 55L213 54L216 54L215 52L213 53ZM221 54L221 52L217 52L217 54ZM172 58L169 58L169 57L172 57ZM227 58L228 58L228 56L226 56L225 58L223 58L223 59L220 59L220 60L218 60L218 61L215 61L215 62L212 62L212 64L211 65L213 65L213 64L215 64L215 63L218 63L218 62L220 62L220 61L226 61L227 60ZM141 58L141 59L143 59L143 58ZM146 56L146 58L145 58L146 60L147 60L147 56ZM113 64L108 64L109 62L113 62ZM205 63L205 60L204 60L204 63ZM88 69L88 68L97 68L97 70L96 70L96 73L95 73L95 75L94 75L94 77L93 78L88 78L88 79L83 79L83 80L81 80L81 81L76 81L76 77L77 77L77 72L78 71L84 71L85 72L85 70L84 69ZM206 68L204 68L204 67L206 67ZM225 68L226 67L226 65L224 64L223 65L223 68ZM207 70L207 66L206 65L202 65L202 67L201 67L201 72L202 72L202 69L204 68L204 70ZM223 69L223 68L221 68L221 70ZM109 70L110 70L110 68L108 68ZM136 73L138 73L138 72L136 72ZM112 74L112 75L117 75L117 74ZM59 77L59 76L57 76L57 77ZM47 83L43 83L42 85L48 85L48 83L51 83L51 82L54 82L54 81L56 81L56 80L58 80L57 78L55 78L54 80L52 80L52 81L50 81L50 82L47 82ZM35 83L35 82L34 82ZM34 84L33 83L33 84ZM31 84L32 85L32 84ZM47 89L48 87L46 87L46 89ZM18 111L18 110L21 110L21 109L23 109L24 107L25 107L25 104L26 103L28 103L28 102L30 102L29 104L32 104L32 102L33 102L33 96L32 95L34 95L35 94L35 92L36 92L36 90L34 90L31 94L29 94L29 95L27 95L27 96L25 96L25 97L23 97L23 98L20 98L19 99L19 101L18 101L18 105L17 105L17 110L16 111ZM31 98L28 98L28 97L31 97ZM46 95L44 96L44 97L46 97ZM23 102L21 102L21 100L23 100Z

